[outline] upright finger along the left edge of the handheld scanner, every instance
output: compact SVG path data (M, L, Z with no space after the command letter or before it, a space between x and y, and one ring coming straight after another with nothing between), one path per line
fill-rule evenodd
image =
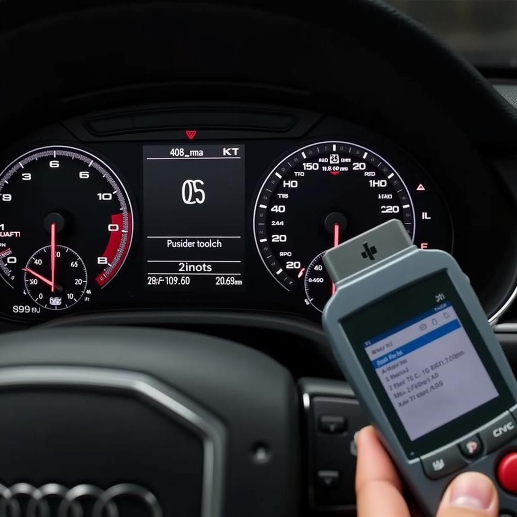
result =
M357 437L358 517L409 517L396 468L369 426Z

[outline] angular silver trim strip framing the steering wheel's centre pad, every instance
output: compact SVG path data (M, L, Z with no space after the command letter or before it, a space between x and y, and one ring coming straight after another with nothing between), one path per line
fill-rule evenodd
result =
M158 405L187 424L203 440L201 517L221 517L226 433L222 423L201 406L155 378L137 372L86 367L0 368L0 389L17 386L74 386L128 391Z

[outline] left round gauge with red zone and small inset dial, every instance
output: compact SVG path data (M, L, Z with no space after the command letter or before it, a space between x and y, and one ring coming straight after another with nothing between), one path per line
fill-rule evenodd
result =
M89 301L132 236L127 190L107 163L68 146L20 156L0 174L0 277L12 289L1 310L37 317Z

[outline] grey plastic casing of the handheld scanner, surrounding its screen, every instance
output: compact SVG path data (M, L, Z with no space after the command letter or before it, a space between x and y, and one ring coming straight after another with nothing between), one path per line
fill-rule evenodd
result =
M323 327L333 353L424 513L430 517L435 515L447 485L460 472L476 470L496 482L495 469L501 449L482 454L459 472L436 480L424 474L420 458L407 458L340 323L347 315L400 290L407 284L434 273L446 271L492 354L500 375L508 385L514 400L517 400L517 384L513 372L487 321L476 293L458 263L444 251L418 249L409 238L403 224L396 219L331 249L324 256L323 262L332 281L336 284L336 294L330 298L323 311ZM430 409L432 408L422 406L422 411ZM515 406L508 409L515 416ZM486 421L480 422L479 428L473 429L467 435L458 436L451 443L444 443L443 447L429 451L429 454L439 453L441 449L445 450L451 444L460 443L473 433L486 429L490 421L498 416L487 415ZM513 440L505 444L504 450L515 449L516 446L517 440ZM424 457L425 454L422 458ZM499 498L501 511L517 510L517 497L499 489Z

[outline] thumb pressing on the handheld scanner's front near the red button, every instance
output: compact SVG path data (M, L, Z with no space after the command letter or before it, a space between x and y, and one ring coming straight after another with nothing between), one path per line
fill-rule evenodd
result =
M491 479L466 472L448 486L436 517L497 517L498 513L499 496Z

